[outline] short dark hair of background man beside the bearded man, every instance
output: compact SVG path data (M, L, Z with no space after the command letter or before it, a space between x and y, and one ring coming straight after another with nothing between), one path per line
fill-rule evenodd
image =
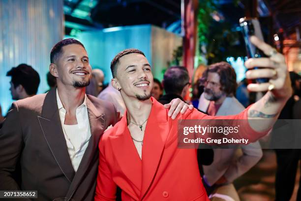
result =
M189 83L188 71L185 67L169 67L163 78L163 87L166 94L181 94Z

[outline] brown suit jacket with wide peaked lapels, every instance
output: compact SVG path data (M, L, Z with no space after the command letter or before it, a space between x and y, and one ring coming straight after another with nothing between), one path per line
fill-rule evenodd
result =
M91 138L75 173L60 123L56 90L14 102L0 130L0 190L37 190L39 201L59 197L92 201L97 145L103 131L118 117L112 103L89 95L87 107Z

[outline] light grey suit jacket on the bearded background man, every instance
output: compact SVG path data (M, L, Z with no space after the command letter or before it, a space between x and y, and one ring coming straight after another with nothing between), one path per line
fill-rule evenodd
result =
M207 111L210 100L206 100L204 93L200 97L201 111ZM244 110L243 105L235 97L227 97L215 116L235 115ZM241 146L242 155L237 157L237 149L213 149L214 158L210 166L203 166L207 182L213 185L221 176L225 176L229 183L255 166L263 153L258 141Z

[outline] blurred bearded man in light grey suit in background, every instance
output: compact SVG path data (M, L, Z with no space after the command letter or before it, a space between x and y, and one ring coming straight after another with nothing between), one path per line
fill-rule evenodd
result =
M201 95L199 109L211 116L239 114L243 105L234 97L237 83L236 73L230 64L220 62L212 64L203 74L204 93ZM262 157L258 141L241 146L240 149L216 147L213 163L203 166L203 182L210 195L221 194L235 201L240 200L232 182L253 167ZM240 152L236 156L236 152ZM229 199L230 199L229 198ZM214 200L214 199L213 199Z

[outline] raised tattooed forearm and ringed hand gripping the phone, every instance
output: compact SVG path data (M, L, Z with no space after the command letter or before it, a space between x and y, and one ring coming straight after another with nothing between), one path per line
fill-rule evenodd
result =
M251 41L269 56L268 58L252 58L245 62L245 66L249 69L265 67L248 70L246 72L247 79L270 78L269 83L247 86L248 90L252 92L268 91L262 99L249 108L247 113L250 126L261 132L269 130L275 123L286 101L292 95L292 87L284 56L255 36L251 37ZM252 119L264 119L264 121L259 124L258 121L250 121Z

